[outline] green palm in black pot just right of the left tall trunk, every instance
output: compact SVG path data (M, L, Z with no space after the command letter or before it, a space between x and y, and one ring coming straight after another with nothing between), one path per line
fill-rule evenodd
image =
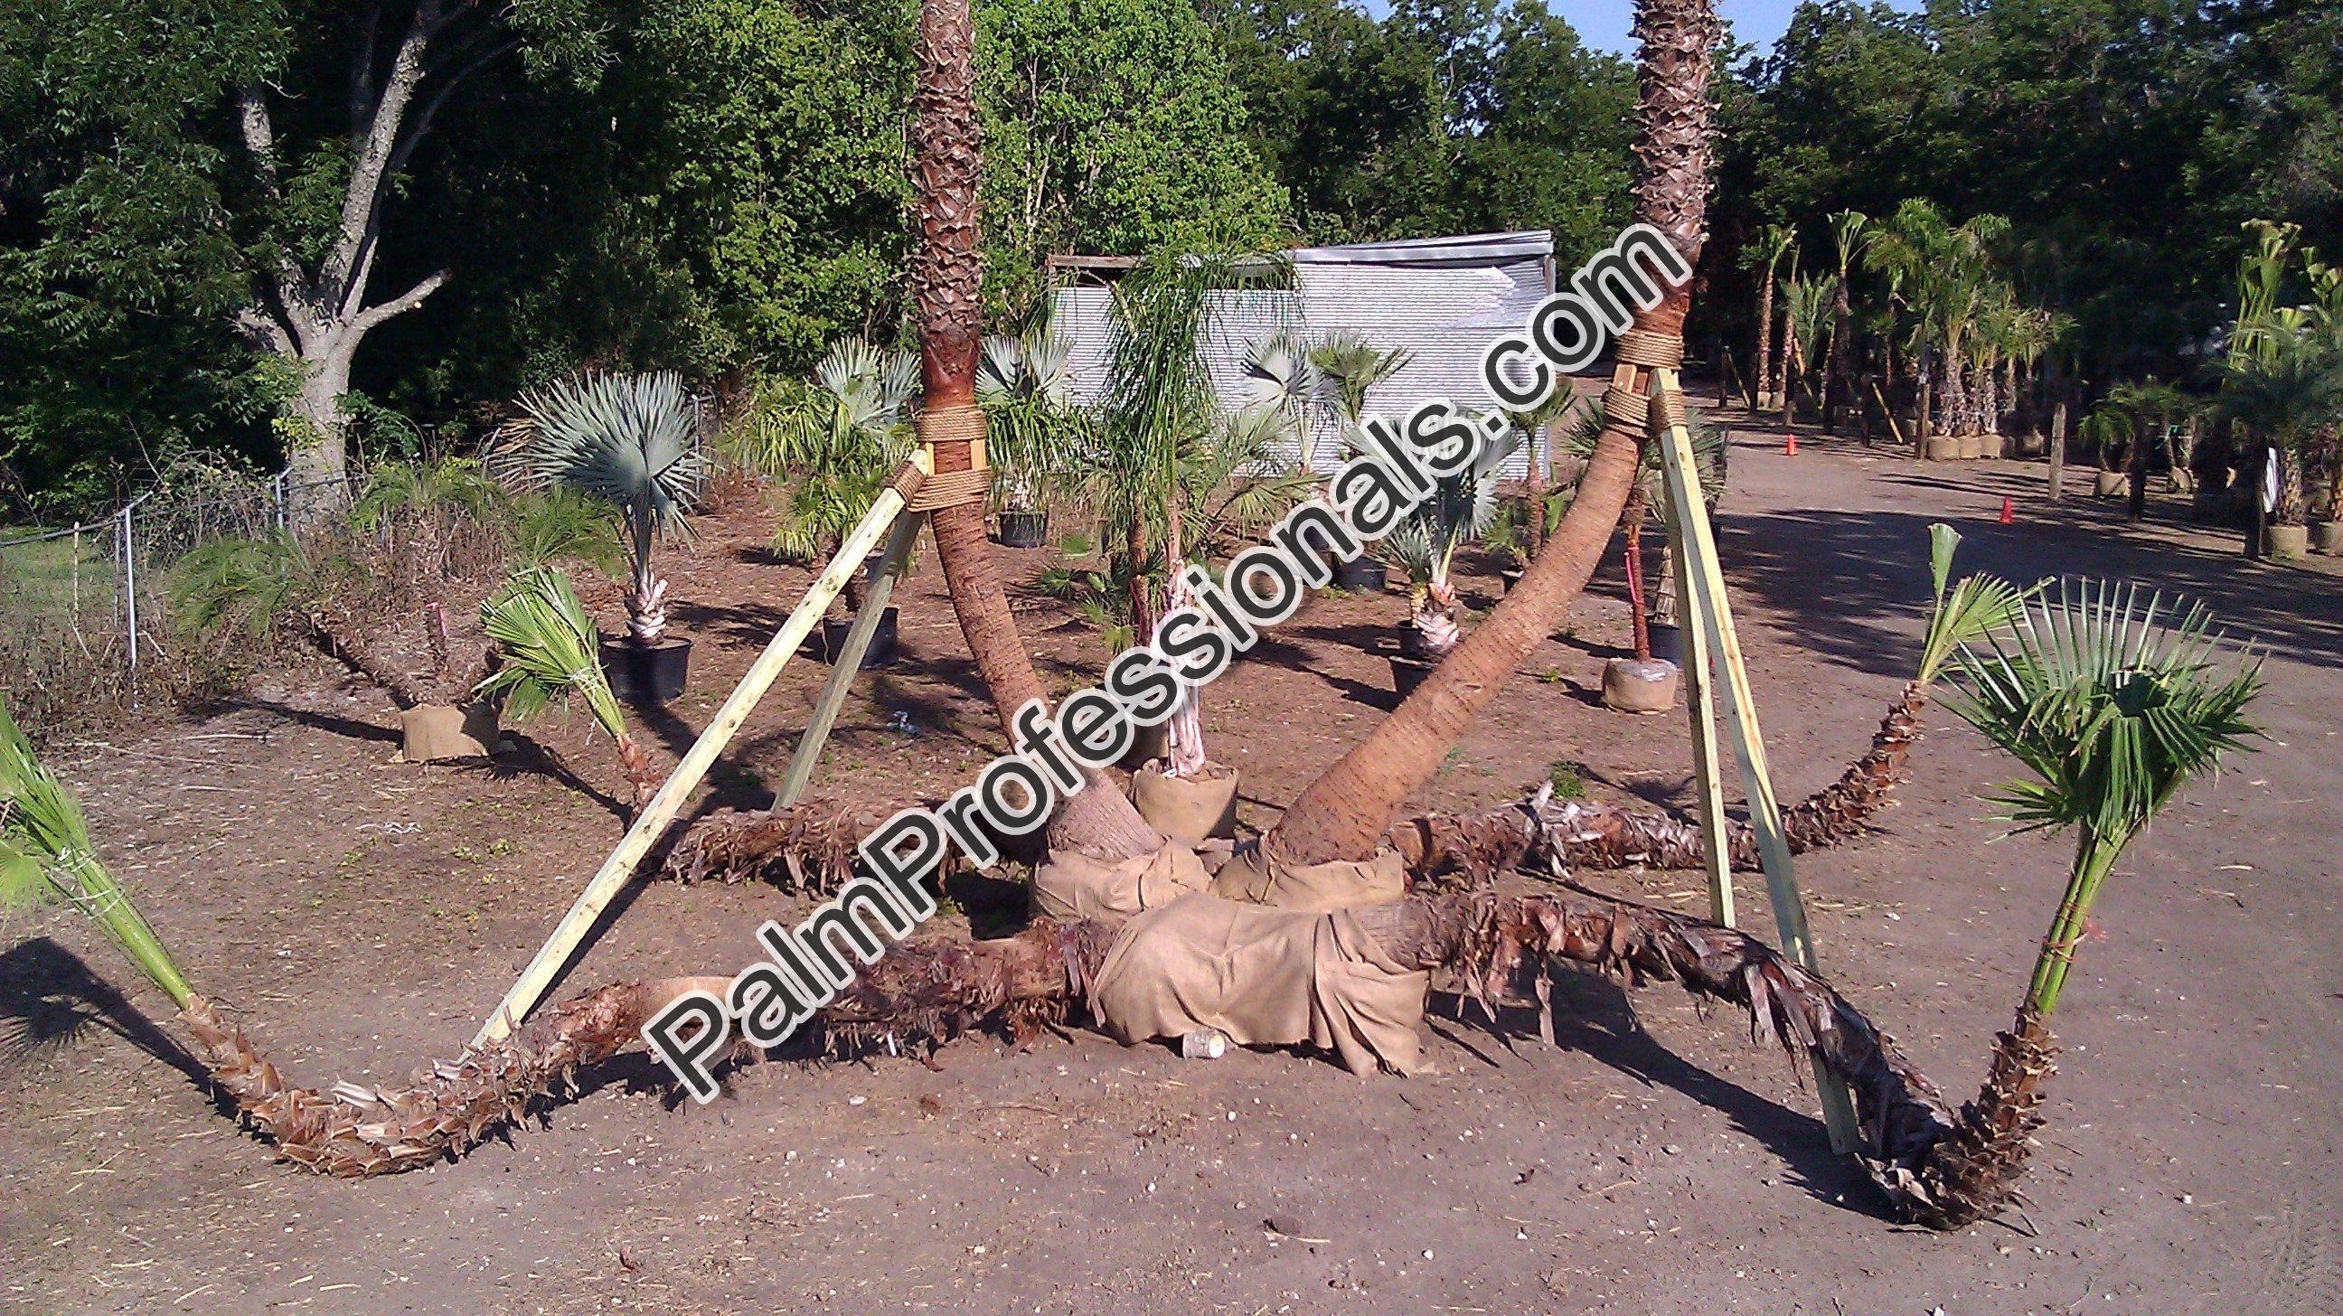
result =
M1068 424L1071 342L1057 333L1050 300L1038 307L1024 333L989 335L977 358L977 405L993 468L993 541L1003 548L1050 543L1045 494Z

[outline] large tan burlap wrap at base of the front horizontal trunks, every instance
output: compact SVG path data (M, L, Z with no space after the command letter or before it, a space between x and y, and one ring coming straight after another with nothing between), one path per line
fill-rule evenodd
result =
M1347 911L1186 895L1129 920L1089 983L1122 1044L1218 1028L1246 1047L1312 1044L1354 1075L1415 1072L1432 974L1394 962Z

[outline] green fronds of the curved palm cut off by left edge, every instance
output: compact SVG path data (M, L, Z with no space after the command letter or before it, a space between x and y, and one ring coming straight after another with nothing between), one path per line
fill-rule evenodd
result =
M98 925L171 1005L194 995L129 892L89 841L82 803L56 780L16 719L0 707L0 902L63 904Z

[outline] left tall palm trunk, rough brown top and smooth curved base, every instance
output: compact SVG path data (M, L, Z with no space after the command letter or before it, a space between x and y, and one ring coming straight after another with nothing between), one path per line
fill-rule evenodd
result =
M968 0L923 0L918 9L916 77L911 96L911 185L918 201L918 253L911 300L918 321L923 412L977 405L977 344L984 335L984 255L977 241L975 23ZM935 443L937 473L975 464L968 438ZM928 518L935 555L944 564L951 611L968 637L1003 731L1029 700L1047 700L1007 592L984 536L984 503L935 508ZM1092 773L1089 789L1050 820L1050 843L1101 859L1125 859L1162 845L1139 810Z

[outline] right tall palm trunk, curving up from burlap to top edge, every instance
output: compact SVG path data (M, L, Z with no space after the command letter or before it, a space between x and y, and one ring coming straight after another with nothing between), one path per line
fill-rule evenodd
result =
M1635 35L1642 40L1635 218L1668 234L1687 265L1699 265L1708 237L1708 77L1717 33L1708 0L1635 5ZM1687 283L1640 311L1635 328L1682 342L1689 307ZM1621 365L1619 384L1645 391L1649 375ZM1488 621L1382 726L1293 801L1263 838L1275 859L1321 864L1375 852L1399 808L1432 780L1464 728L1586 588L1635 487L1642 440L1619 421L1603 426L1577 501L1530 562L1521 585L1497 602Z

